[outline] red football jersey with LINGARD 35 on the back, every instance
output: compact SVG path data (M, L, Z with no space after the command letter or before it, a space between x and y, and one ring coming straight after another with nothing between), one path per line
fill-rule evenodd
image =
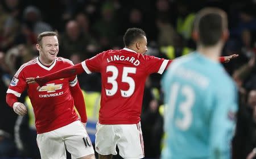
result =
M162 74L169 60L136 53L127 48L109 50L82 62L85 72L100 72L101 124L136 124L141 118L146 78Z

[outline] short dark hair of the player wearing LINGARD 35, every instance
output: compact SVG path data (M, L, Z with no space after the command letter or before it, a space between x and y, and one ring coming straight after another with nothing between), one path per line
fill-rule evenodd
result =
M135 40L146 36L145 32L140 28L129 28L123 36L123 43L128 47L135 42Z

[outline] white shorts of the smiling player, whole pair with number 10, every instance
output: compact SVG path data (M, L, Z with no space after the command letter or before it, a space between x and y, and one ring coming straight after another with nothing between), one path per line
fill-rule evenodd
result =
M65 148L72 158L94 154L92 143L80 121L65 125L36 137L42 159L67 158Z

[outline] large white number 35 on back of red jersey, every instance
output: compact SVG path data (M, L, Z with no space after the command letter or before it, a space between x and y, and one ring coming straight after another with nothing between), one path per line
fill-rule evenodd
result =
M105 89L106 90L106 95L112 96L115 93L117 93L118 90L118 84L117 81L115 81L118 77L118 69L117 67L113 65L109 65L106 67L106 72L112 72L112 76L108 77L107 82L112 84L112 89ZM123 67L123 72L122 72L122 82L128 83L129 89L128 90L120 90L122 97L130 97L133 95L134 90L135 90L135 82L133 78L129 77L129 73L136 73L136 68L132 67Z

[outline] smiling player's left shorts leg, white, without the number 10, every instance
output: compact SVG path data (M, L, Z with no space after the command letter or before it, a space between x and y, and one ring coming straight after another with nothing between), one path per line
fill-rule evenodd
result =
M64 141L56 132L40 133L36 141L42 159L66 158Z

